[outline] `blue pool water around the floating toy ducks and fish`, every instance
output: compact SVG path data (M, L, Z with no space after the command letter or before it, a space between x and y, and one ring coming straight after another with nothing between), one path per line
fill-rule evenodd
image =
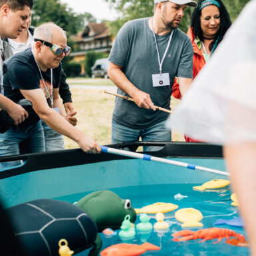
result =
M150 185L150 186L132 186L125 188L114 188L112 192L117 193L123 199L130 199L134 208L141 208L151 203L166 202L174 203L179 205L178 209L193 207L198 209L203 214L203 228L215 227L214 223L217 219L233 219L239 217L237 207L231 205L231 190L229 187L217 189L217 190L205 190L199 192L193 190L193 186L200 186L201 184L161 184L161 185ZM188 197L178 201L174 199L174 195L181 193ZM61 199L74 203L78 201L84 195L88 193L77 193L69 195L68 197L58 197L55 199ZM177 209L177 210L178 210ZM100 209L99 209L100 211ZM176 211L172 211L166 214L166 221L170 223L170 229L166 233L158 233L152 230L150 233L138 233L133 239L122 241L120 237L114 235L110 238L105 237L102 233L102 249L114 245L116 243L135 243L142 244L145 241L158 245L161 247L160 251L147 251L144 255L200 255L200 256L221 256L221 255L249 255L249 248L247 247L236 247L225 243L225 239L219 243L214 243L217 240L209 240L203 243L199 243L199 240L190 240L185 242L174 242L172 241L172 233L180 231L183 228L179 221L176 221L174 214ZM154 225L156 219L154 215L150 222ZM137 217L136 223L139 223L139 217ZM217 225L220 228L229 228L237 233L245 235L245 231L241 227L231 227L228 225ZM198 228L193 228L193 231ZM118 231L117 231L118 233ZM79 253L80 256L85 255Z

